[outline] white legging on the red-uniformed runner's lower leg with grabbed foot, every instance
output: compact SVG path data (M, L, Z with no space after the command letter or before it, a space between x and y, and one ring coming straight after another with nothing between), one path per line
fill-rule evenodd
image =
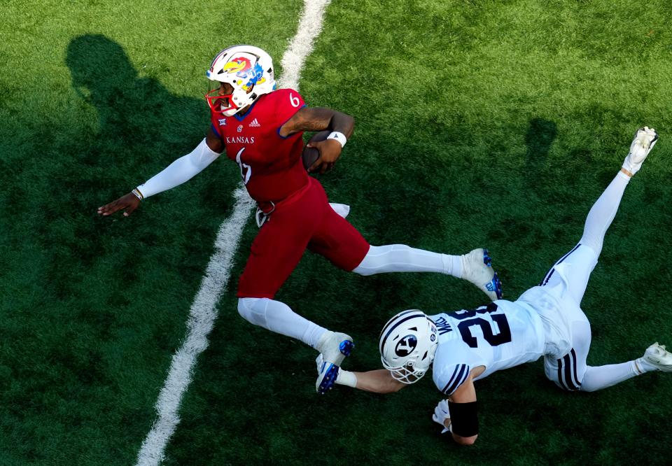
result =
M303 341L315 348L324 327L299 316L287 304L268 298L239 298L238 312L250 323Z

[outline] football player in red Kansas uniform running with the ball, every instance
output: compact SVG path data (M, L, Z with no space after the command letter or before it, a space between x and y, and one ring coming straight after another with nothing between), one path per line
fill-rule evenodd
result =
M318 393L332 388L339 365L353 348L351 337L331 332L274 300L274 295L308 248L337 267L362 275L390 271L434 271L471 281L490 299L501 295L483 249L445 255L404 245L371 246L332 206L322 185L302 163L304 131L325 129L312 143L320 157L310 171L331 169L351 136L351 116L311 108L292 89L276 89L271 57L260 48L236 45L220 52L207 77L211 128L191 153L127 195L98 209L108 216L130 215L142 199L174 188L195 176L221 153L240 167L242 181L257 202L260 231L251 246L238 285L238 311L249 322L303 341L323 355Z

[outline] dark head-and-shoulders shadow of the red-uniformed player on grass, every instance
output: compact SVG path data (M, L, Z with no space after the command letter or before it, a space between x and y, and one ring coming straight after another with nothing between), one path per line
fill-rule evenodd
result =
M146 173L193 148L207 130L202 101L177 97L158 80L140 78L123 48L105 36L74 38L66 64L73 89L98 114L95 141L81 159L87 165L137 165L135 172Z

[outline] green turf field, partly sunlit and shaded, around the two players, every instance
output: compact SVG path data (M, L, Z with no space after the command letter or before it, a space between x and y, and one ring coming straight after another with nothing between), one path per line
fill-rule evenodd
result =
M209 127L225 46L280 57L302 1L8 0L0 6L0 465L130 465L238 167L218 160L130 218L97 206L188 153ZM582 307L588 362L672 344L672 7L575 1L333 0L300 90L356 118L320 177L373 244L486 246L514 299L580 238L637 127L660 141L626 190ZM235 283L181 404L165 465L669 464L672 375L564 393L542 362L478 381L472 448L440 437L430 377L394 395L314 393L310 348L253 327ZM349 332L380 366L402 309L483 304L432 274L346 274L307 253L277 295Z

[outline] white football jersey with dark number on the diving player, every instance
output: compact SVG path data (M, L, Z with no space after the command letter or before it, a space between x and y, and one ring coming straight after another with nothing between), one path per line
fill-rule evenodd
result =
M471 369L483 379L501 369L538 360L544 351L541 318L528 304L498 299L471 311L429 316L439 331L433 362L437 388L451 395Z

